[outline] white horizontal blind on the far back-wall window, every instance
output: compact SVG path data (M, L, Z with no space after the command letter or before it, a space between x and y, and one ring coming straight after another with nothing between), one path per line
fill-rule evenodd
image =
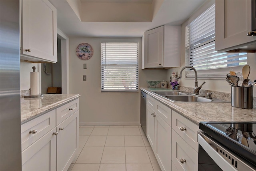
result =
M101 43L101 91L138 91L138 42Z

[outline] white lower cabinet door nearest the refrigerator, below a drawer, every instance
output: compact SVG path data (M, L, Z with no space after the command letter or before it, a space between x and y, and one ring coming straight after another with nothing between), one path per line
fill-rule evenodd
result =
M56 170L56 127L22 151L22 171Z

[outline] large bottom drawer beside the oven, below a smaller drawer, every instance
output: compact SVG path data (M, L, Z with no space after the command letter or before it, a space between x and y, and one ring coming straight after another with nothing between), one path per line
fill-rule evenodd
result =
M181 163L180 159L186 160ZM178 171L197 171L198 153L172 129L172 162Z

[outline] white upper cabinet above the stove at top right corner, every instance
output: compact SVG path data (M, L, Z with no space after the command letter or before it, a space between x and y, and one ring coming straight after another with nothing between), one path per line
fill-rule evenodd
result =
M215 3L215 50L256 50L256 36L247 36L247 33L252 31L252 1L216 0Z

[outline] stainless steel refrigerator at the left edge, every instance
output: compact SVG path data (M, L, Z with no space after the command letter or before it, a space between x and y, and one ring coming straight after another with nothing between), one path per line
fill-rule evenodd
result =
M0 0L0 171L21 171L19 0Z

